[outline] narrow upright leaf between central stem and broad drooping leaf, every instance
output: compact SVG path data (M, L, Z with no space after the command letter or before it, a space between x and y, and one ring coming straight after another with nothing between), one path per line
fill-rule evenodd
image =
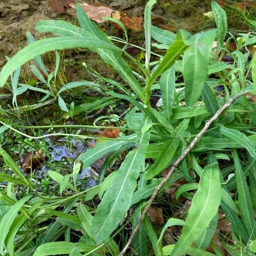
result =
M160 89L162 93L163 105L166 108L166 117L171 119L173 93L175 91L175 67L172 66L160 78Z

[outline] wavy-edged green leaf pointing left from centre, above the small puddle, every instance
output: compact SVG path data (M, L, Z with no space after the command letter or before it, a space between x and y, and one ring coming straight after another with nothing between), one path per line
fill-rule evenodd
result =
M108 140L106 142L96 143L95 147L90 148L81 154L77 160L81 160L84 163L83 168L86 168L95 160L101 158L108 152L116 151L123 145L127 144L129 141L136 140L136 136L136 134L132 134L129 136L119 137L119 140Z

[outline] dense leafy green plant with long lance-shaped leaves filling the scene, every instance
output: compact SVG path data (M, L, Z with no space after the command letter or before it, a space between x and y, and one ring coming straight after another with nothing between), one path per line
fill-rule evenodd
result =
M1 200L8 204L1 213L3 218L0 221L2 254L6 248L5 253L9 255L123 255L134 239L134 250L140 255L148 255L145 241L149 237L155 255L179 256L187 253L210 256L214 254L204 250L215 233L219 206L231 223L236 255L253 255L255 252L253 209L256 204L253 195L256 190L256 108L245 94L256 93L256 56L250 60L250 52L246 50L247 45L256 42L256 37L243 35L237 38L237 50L230 52L227 47L233 35L224 44L227 36L226 16L215 1L212 1L212 9L218 33L216 29L211 29L191 35L180 30L175 35L151 26L151 8L154 3L156 1L150 0L145 7L145 63L139 63L125 52L125 48L114 45L89 20L78 4L77 18L81 28L59 20L39 21L36 25L38 31L53 32L60 37L31 42L3 67L0 73L1 86L26 61L39 58L45 52L74 47L90 48L112 66L133 91L132 95L129 90L124 89L122 91L125 94L121 94L117 89L115 92L106 92L106 95L110 99L130 102L133 108L126 115L129 133L116 140L97 143L94 148L79 156L85 168L107 153L116 157L122 151L128 151L119 169L108 175L102 183L80 192L75 181L79 172L77 163L73 173L70 172L65 177L57 172L49 172L52 179L60 184L61 192L66 188L73 191L66 198L37 194L34 184L24 177L11 157L5 151L0 151L6 165L13 172L13 175L1 174L1 180L28 188L27 194L31 191L36 194L35 198L25 204L29 198L17 201L11 188L6 193L1 192ZM218 46L212 49L216 33ZM165 55L157 60L157 64L150 61L151 36L160 43L158 47L167 49ZM120 39L120 42L127 45L127 41ZM226 64L221 61L224 55L232 57L234 63ZM124 57L137 65L140 70L137 75L143 77L145 86L141 86L135 78ZM42 70L42 64L38 65L41 65ZM34 66L32 71L39 79L40 75ZM55 73L49 76L53 78ZM78 83L71 83L72 85L61 88L55 94L62 110L67 111L67 106L59 94L66 89L88 85L90 82ZM223 85L224 93L215 90L220 84ZM121 83L117 87L125 88ZM152 108L150 104L153 90L160 90L162 93L163 106L159 110ZM1 123L5 124L3 120ZM49 134L42 137L46 136ZM244 171L237 154L238 149L246 166ZM146 158L151 159L150 164L145 163ZM222 169L219 165L221 160L230 158L233 161L228 162L225 167L231 168ZM106 160L106 163L110 162ZM160 173L167 166L171 170L165 178L161 178ZM70 182L71 177L74 186ZM146 211L158 192L163 192L163 189L172 186L182 177L188 183L177 189L177 198L181 194L188 198L193 197L186 220L168 216L170 218L157 238L146 217ZM199 183L195 183L195 177L200 178ZM187 193L195 189L197 192L194 196ZM238 196L231 198L231 191L236 191ZM95 195L101 200L99 205L89 207L84 204ZM150 196L149 201L146 201ZM131 218L119 227L132 205L135 207ZM21 213L16 216L19 210ZM13 214L7 229L4 223L10 212ZM55 222L45 224L45 219L52 216L56 216ZM120 253L115 237L129 221L133 221L134 230L128 244ZM175 244L163 247L163 233L172 225L183 226L180 237ZM70 241L71 229L82 232L79 241ZM253 241L250 242L251 240ZM14 241L18 246L14 246ZM195 245L192 247L193 242ZM226 250L232 251L227 245L226 247ZM221 255L218 249L214 246L213 248L216 255Z

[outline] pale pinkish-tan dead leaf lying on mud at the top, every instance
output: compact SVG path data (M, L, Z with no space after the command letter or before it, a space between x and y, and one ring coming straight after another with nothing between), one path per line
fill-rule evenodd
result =
M74 4L70 4L72 8L76 8ZM102 19L102 17L111 17L112 9L107 6L101 6L99 4L87 4L87 3L81 3L82 8L86 12L87 16L91 20L95 20L98 23L102 23L105 20Z

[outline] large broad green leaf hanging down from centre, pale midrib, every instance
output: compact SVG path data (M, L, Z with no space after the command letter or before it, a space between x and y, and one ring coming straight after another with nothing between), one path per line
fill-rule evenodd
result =
M147 121L147 119L146 119ZM142 126L146 123L143 122ZM111 235L131 206L140 169L144 165L150 132L140 135L137 149L130 151L111 180L92 221L93 239L102 243Z

